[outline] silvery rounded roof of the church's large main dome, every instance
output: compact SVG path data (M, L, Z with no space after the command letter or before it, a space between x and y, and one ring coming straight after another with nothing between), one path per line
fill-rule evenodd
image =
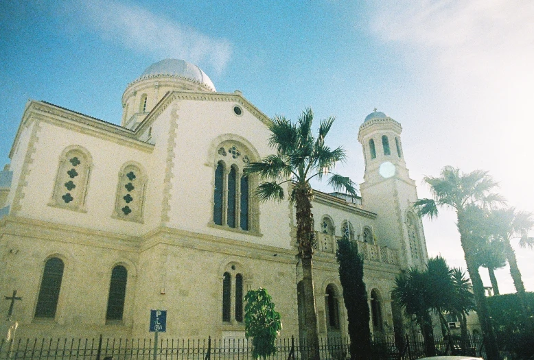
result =
M154 62L154 64L150 65L150 67L143 71L137 80L160 76L182 77L187 80L198 82L209 88L211 91L216 91L215 85L213 85L209 76L206 75L202 69L194 64L178 59L165 59L159 62Z

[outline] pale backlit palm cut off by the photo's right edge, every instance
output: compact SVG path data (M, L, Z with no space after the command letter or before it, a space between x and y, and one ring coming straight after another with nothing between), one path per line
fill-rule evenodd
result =
M489 215L490 221L495 226L496 235L500 238L504 248L504 256L510 265L510 275L513 279L515 291L521 303L525 320L528 320L531 313L525 298L525 289L518 261L515 259L515 251L512 248L511 240L519 239L520 248L534 248L534 238L529 237L529 231L534 228L534 219L531 213L526 211L516 211L515 208L498 209ZM532 325L532 324L531 324Z

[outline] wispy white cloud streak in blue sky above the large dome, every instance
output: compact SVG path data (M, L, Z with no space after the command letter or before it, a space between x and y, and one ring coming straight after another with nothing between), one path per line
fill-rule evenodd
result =
M157 58L180 58L209 64L220 73L231 57L228 40L213 38L154 14L137 5L119 1L84 1L86 23L106 38L134 51Z

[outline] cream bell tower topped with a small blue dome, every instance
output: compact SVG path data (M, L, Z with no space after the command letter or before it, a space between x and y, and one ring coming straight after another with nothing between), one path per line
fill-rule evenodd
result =
M428 259L426 241L421 219L412 209L417 188L406 168L401 132L400 123L376 109L360 125L358 141L365 161L360 192L364 208L378 214L380 243L399 252L403 268L422 267Z

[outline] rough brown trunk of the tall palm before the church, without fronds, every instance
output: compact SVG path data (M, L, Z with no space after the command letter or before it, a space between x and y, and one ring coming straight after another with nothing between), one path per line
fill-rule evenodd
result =
M294 201L297 217L297 245L302 261L302 283L304 290L304 316L306 324L305 345L308 359L319 360L319 337L317 333L317 313L313 279L313 215L312 189L310 184L295 184Z

